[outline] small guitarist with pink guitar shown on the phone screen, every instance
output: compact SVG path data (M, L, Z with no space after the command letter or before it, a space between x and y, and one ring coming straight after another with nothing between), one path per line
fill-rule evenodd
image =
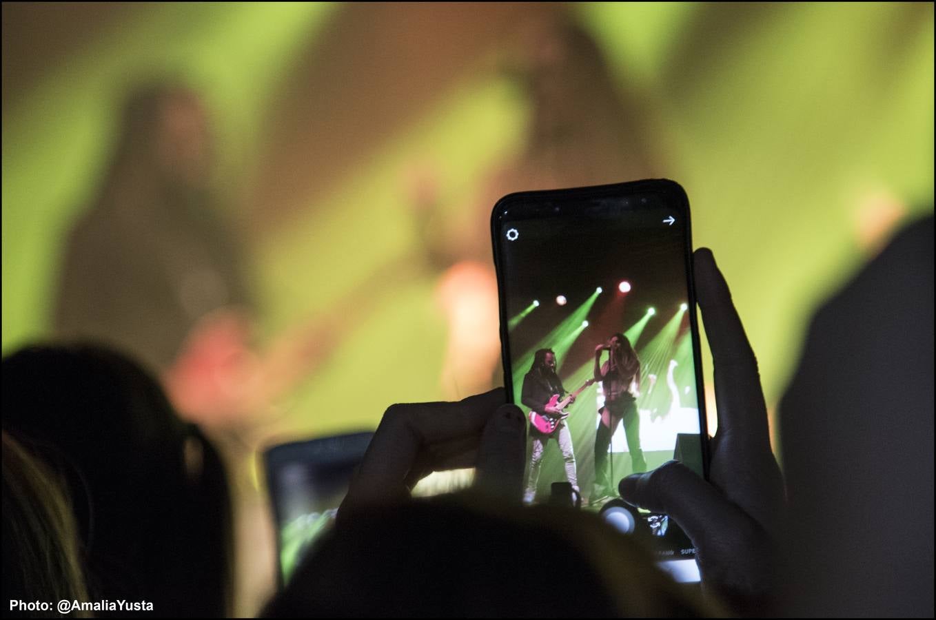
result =
M531 413L538 413L552 419L559 418L563 411L548 403L553 396L565 396L563 382L556 374L556 353L551 349L540 349L534 353L533 366L523 376L523 392L521 402L530 408ZM575 400L573 397L572 400ZM531 416L532 417L532 416ZM530 480L526 492L523 494L525 503L533 503L536 495L536 483L539 480L539 468L543 462L543 452L550 437L559 441L559 449L563 451L565 461L565 477L572 488L578 493L578 478L576 476L576 455L572 451L572 434L568 426L559 420L550 433L537 430L536 425L530 425L530 435L533 438L533 460L530 463Z

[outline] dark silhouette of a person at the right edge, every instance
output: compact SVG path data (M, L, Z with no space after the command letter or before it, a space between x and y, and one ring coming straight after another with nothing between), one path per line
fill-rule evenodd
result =
M790 612L933 613L933 218L818 311L781 405Z

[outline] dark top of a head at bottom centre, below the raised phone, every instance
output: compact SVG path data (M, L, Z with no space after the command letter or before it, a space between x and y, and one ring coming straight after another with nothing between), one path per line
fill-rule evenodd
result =
M561 589L560 593L557 588ZM574 594L573 594L574 593ZM640 545L586 512L445 497L355 512L268 617L700 617Z

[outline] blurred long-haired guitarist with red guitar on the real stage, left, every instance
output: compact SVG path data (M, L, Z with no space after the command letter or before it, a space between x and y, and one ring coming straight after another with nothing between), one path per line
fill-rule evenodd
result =
M253 613L274 576L256 452L276 432L281 397L328 358L373 308L374 282L392 281L399 266L259 346L245 256L222 217L214 165L199 94L163 81L130 94L94 204L66 241L54 329L139 359L175 411L217 443L237 506L238 610Z

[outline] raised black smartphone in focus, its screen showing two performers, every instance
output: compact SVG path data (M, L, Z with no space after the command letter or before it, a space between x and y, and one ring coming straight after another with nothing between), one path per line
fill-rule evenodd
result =
M571 483L582 510L644 536L661 566L698 581L679 526L617 492L673 458L708 477L685 192L638 180L506 195L491 234L505 386L529 420L524 501Z

